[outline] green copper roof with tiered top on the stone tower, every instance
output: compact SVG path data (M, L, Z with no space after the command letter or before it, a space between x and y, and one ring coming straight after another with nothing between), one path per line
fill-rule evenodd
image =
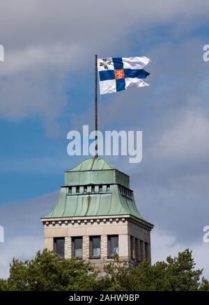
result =
M85 217L129 214L143 219L129 189L129 176L104 159L91 158L65 171L59 202L42 217Z

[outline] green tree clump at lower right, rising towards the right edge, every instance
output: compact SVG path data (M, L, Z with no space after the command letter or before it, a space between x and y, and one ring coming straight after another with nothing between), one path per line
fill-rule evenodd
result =
M128 265L109 264L105 269L111 277L109 290L196 291L209 290L208 281L201 278L203 269L194 269L192 251L186 249L178 257L151 265L144 260L137 268Z

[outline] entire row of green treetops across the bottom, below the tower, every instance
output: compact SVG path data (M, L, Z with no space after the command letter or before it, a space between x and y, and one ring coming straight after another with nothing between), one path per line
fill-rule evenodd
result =
M0 290L206 291L209 283L201 279L202 272L203 269L195 269L189 249L177 257L169 256L166 262L151 265L150 260L144 260L137 267L119 263L116 257L102 273L84 260L59 260L55 253L44 250L32 260L14 258L9 278L0 279Z

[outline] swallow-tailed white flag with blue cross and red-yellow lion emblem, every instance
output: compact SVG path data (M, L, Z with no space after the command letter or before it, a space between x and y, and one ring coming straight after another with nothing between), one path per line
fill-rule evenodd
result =
M149 62L146 56L98 58L100 94L122 91L131 86L149 86L143 80L150 74L144 70Z

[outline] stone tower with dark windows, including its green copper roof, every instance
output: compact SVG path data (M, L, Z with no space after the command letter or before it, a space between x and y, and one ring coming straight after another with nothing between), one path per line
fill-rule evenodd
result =
M45 248L60 259L77 256L101 268L117 255L134 265L150 258L150 230L138 212L129 176L104 159L65 171L54 210L41 218Z

